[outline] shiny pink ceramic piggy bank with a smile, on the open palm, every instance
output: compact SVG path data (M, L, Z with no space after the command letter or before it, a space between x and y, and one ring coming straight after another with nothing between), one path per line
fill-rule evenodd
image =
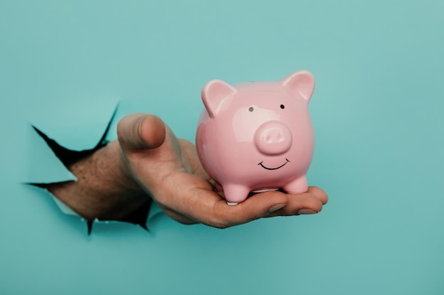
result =
M206 83L196 149L228 204L243 202L250 192L306 192L314 148L308 110L313 90L309 71L278 82Z

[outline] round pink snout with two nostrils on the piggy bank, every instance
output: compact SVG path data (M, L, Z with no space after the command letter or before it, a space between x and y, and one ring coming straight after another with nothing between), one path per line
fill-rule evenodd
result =
M257 149L270 156L284 154L292 146L292 141L290 129L277 121L265 122L255 133Z

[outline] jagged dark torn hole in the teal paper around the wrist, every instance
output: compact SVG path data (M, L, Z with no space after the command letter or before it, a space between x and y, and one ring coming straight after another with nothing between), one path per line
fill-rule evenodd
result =
M54 199L57 206L65 214L79 216L79 214L74 212L74 210L72 210L69 206L67 206L67 204L62 202L60 199L57 199L57 196L52 195L48 191L48 187L52 184L55 184L55 183L64 183L67 181L77 181L77 178L75 178L75 175L72 175L72 173L70 173L70 171L67 169L67 167L72 165L72 163L76 163L77 161L79 161L80 159L82 159L84 157L94 154L95 151L106 146L106 144L108 143L107 138L109 135L109 129L111 127L111 124L113 123L114 117L116 116L116 111L117 111L117 108L114 110L113 115L111 116L111 120L109 120L109 123L105 129L105 132L101 136L101 138L99 139L99 142L93 148L85 149L82 151L74 151L72 149L67 149L65 146L61 146L60 144L57 143L57 141L48 137L48 135L45 134L42 130L33 126L36 134L38 134L40 136L40 138L43 139L45 144L50 148L50 151L52 151L52 153L55 155L55 157L57 157L59 163L61 162L63 164L63 166L65 166L64 175L66 178L63 180L60 180L60 176L58 176L57 178L55 178L55 180L48 180L45 182L28 181L27 184L34 185L36 187L40 187L40 188L44 189L46 192L48 192L48 195L50 195ZM52 161L52 162L54 162L54 161ZM47 165L45 165L45 166L47 166ZM42 178L34 178L34 179L42 179ZM94 219L93 221L86 221L88 234L91 233L92 226L93 226L94 222L105 222L108 224L110 221L112 221L112 222L127 222L127 223L131 223L131 224L139 225L140 227L142 227L143 229L148 231L148 226L146 224L148 223L149 219L152 219L152 217L159 214L160 212L162 212L162 211L159 209L159 207L157 207L157 206L152 207L152 199L148 199L147 202L145 202L145 204L143 204L141 207L136 209L134 212L132 212L128 216L123 217L122 219L118 219L118 220ZM82 216L79 216L79 218L83 219Z

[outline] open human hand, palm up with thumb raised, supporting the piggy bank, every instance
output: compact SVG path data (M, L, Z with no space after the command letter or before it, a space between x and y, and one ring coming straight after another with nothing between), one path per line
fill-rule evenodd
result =
M227 228L271 216L314 214L328 197L318 187L302 194L261 192L229 206L215 191L194 144L177 139L159 117L133 114L118 123L121 158L129 177L172 219Z

